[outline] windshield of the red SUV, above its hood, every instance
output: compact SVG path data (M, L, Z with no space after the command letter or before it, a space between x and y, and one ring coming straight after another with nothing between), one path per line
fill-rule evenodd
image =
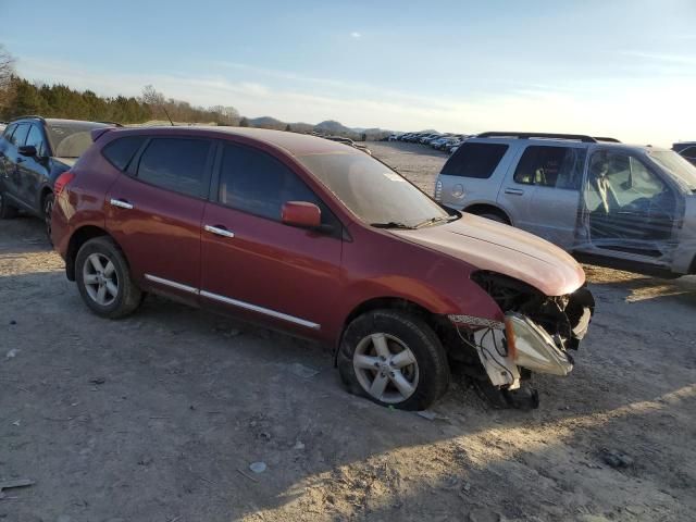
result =
M310 154L298 160L368 224L411 227L449 217L435 201L370 156Z

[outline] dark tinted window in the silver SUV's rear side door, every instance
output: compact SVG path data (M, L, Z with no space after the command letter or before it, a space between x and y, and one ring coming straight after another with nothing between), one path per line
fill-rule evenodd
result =
M579 189L584 163L585 149L530 146L518 163L514 181L527 185Z

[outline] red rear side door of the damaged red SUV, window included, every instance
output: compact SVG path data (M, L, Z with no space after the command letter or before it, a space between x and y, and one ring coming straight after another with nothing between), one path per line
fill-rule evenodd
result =
M140 149L127 174L107 195L107 227L137 279L197 301L201 217L210 189L213 142L153 137Z

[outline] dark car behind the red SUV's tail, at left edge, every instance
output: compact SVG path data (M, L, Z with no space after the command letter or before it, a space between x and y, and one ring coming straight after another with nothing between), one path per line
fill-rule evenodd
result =
M12 121L0 138L0 217L25 210L51 233L53 183L91 145L90 132L109 124L26 116Z

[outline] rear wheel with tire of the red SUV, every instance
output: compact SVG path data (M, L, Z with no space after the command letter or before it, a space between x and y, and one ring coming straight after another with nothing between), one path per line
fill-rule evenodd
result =
M123 252L107 236L82 246L75 260L75 281L85 304L102 318L125 318L142 302Z

